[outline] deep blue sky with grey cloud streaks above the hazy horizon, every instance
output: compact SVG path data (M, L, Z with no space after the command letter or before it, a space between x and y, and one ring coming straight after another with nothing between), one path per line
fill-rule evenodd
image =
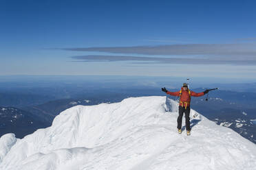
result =
M0 75L256 80L254 1L0 1Z

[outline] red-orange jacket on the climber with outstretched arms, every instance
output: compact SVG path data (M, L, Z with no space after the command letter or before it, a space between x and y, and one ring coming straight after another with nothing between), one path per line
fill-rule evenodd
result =
M176 91L176 92L169 92L167 91L168 95L173 95L173 96L180 96L180 91ZM190 95L193 97L200 97L202 95L204 95L204 92L201 93L195 93L193 91L190 90ZM189 90L183 90L182 88L182 94L180 96L180 106L184 106L182 104L182 102L186 102L186 106L190 106L190 97L189 97Z

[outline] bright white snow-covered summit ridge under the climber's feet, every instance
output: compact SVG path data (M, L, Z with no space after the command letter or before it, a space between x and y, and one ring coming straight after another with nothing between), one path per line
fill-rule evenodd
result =
M178 134L177 110L166 97L74 106L25 138L1 136L0 169L256 169L254 143L194 110L191 136Z

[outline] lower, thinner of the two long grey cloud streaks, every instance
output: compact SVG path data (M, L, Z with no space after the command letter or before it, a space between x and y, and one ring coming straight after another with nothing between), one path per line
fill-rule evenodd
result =
M228 58L161 58L139 56L73 56L74 62L123 62L131 64L232 64L256 65L256 60L228 60Z

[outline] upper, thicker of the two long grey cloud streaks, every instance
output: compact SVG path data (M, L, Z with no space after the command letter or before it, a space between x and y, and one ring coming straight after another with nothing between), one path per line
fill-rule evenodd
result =
M134 53L145 55L256 56L256 48L253 44L186 44L134 47L87 47L65 48L65 50Z

